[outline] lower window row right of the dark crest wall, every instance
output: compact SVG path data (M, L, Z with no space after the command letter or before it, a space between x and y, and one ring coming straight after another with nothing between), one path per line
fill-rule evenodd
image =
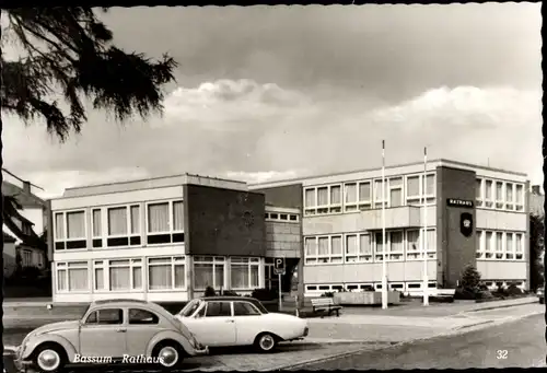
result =
M524 260L524 233L477 230L477 259Z

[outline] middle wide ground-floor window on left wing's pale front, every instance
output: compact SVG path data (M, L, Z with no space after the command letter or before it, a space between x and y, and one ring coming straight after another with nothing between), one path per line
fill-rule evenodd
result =
M116 259L108 261L110 291L142 289L142 259Z

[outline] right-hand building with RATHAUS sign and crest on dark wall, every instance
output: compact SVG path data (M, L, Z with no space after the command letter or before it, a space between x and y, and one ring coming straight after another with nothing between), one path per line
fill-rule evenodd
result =
M423 163L386 167L385 177L384 195L381 168L251 186L302 212L306 294L381 289L384 255L388 287L404 292L421 292L423 255L429 288L454 288L474 264L487 285L527 289L525 174L435 160L426 172Z

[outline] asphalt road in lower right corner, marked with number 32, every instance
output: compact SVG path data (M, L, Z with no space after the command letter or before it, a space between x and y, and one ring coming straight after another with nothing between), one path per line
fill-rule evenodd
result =
M544 330L544 315L534 315L463 335L366 351L298 370L546 366Z

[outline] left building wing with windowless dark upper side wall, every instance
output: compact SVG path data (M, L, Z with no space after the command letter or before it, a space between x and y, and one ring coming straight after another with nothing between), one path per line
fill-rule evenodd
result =
M276 287L272 256L300 256L293 226L300 210L266 207L234 180L185 174L67 189L51 200L54 302Z

